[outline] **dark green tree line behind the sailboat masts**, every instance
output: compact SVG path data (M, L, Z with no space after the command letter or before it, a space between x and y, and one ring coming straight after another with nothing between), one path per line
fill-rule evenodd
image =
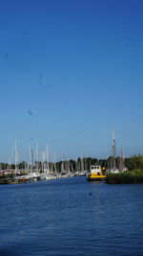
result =
M143 170L143 155L136 154L131 157L121 159L120 156L115 158L116 167L119 168L120 160L124 160L124 164L129 171L133 170ZM31 166L26 161L21 161L15 167L15 164L8 164L8 163L0 163L0 170L46 170L49 169L50 172L54 173L64 173L64 172L82 172L88 171L90 172L91 165L100 165L102 168L109 169L110 162L112 161L112 156L108 157L107 159L97 159L92 157L83 157L78 158L77 160L64 160L59 161L56 163L53 162L41 162L36 161Z

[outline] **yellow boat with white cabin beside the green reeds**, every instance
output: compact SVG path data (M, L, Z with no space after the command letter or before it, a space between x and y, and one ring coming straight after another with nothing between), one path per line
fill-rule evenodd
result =
M100 165L91 166L91 174L87 178L89 181L101 181L106 179L106 175L103 174L103 170Z

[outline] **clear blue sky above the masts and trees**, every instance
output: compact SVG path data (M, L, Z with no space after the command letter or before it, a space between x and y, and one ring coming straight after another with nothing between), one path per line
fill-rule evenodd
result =
M143 1L0 1L0 161L143 153Z

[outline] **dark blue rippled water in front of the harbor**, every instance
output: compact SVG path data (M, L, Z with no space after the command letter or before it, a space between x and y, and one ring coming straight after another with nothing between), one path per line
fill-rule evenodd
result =
M1 185L2 255L143 255L143 184Z

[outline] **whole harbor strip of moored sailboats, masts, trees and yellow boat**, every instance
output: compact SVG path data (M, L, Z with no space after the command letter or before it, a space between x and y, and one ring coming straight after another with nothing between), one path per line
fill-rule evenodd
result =
M121 147L120 155L116 157L114 128L112 128L112 155L107 159L98 160L81 156L77 160L66 160L64 154L62 154L61 161L53 162L49 159L48 145L46 150L42 151L41 159L38 156L38 148L36 147L35 154L30 145L30 162L22 161L19 163L16 140L14 148L15 164L0 163L0 185L84 175L87 176L88 181L106 181L108 184L143 182L143 156L138 154L126 159ZM34 157L34 155L37 157ZM11 169L8 169L8 167Z

